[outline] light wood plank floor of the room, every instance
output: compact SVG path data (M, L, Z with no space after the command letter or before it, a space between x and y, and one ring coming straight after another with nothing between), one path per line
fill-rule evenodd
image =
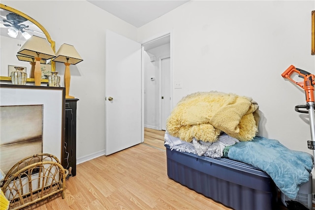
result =
M145 143L77 165L65 199L28 210L230 210L168 178L164 133L146 129Z

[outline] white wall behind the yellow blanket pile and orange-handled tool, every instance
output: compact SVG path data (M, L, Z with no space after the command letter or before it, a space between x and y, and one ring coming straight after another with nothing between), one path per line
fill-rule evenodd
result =
M252 97L258 135L306 151L310 125L294 111L304 91L281 74L290 65L315 73L311 11L315 1L192 0L138 29L138 41L174 32L174 106L198 91Z

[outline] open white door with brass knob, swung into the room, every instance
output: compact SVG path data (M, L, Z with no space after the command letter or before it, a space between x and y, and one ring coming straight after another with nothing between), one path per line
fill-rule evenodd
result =
M141 143L141 44L108 30L105 44L105 155L109 155Z

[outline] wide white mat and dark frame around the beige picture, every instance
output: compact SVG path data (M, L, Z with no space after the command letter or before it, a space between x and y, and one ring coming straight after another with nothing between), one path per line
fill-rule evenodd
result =
M0 106L43 105L43 153L63 161L65 88L0 84Z

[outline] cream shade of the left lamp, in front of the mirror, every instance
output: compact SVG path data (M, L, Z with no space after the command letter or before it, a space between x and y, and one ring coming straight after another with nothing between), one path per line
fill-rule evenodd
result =
M39 57L45 60L56 57L49 42L45 38L35 35L32 35L32 37L23 44L18 53L31 57Z

